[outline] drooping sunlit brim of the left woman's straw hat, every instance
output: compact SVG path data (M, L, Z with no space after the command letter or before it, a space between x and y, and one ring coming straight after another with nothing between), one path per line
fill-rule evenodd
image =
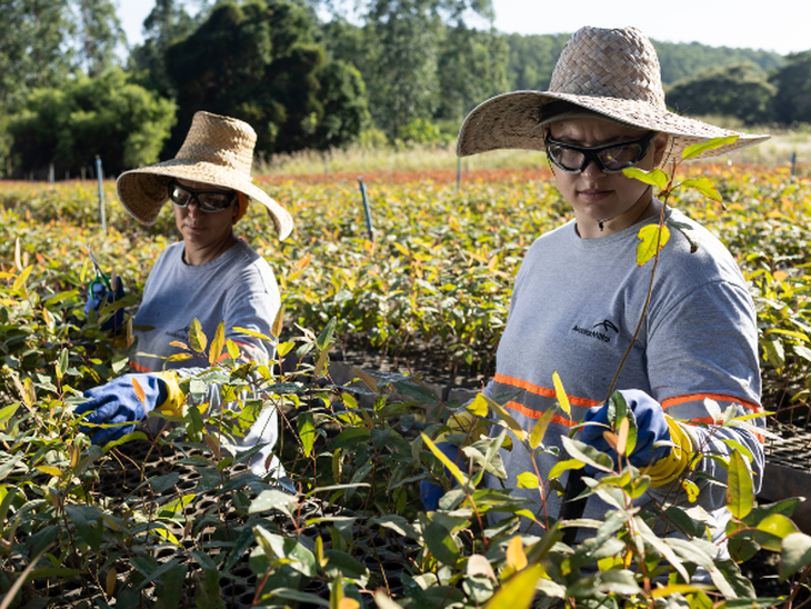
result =
M247 179L244 173L223 169L213 163L172 159L133 169L119 176L116 190L127 211L139 222L150 226L156 222L161 207L169 200L167 189L169 182L176 178L231 188L262 203L273 220L280 240L284 240L293 230L293 219L290 213Z

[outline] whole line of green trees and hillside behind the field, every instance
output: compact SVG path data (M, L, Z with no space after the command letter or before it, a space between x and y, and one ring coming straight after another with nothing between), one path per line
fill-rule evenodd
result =
M122 57L113 0L0 0L0 174L171 158L200 109L251 123L268 157L445 142L484 99L545 89L569 38L500 33L490 0L368 0L351 21L336 0L196 9L157 0ZM680 112L811 122L811 51L653 42Z

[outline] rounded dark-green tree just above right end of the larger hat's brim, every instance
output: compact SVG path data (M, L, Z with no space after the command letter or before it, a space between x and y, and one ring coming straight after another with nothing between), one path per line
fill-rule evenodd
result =
M752 63L713 68L684 79L667 91L667 102L680 113L735 117L747 124L769 118L777 88Z

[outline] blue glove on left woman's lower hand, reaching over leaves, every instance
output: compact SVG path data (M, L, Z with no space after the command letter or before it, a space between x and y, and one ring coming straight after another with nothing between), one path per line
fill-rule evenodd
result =
M146 396L142 403L136 396L136 387L132 379L138 379L138 385L143 389ZM144 417L162 405L168 396L167 383L156 375L124 375L101 387L93 387L84 391L84 397L89 398L84 403L80 403L73 412L76 415L84 415L84 421L89 423L131 423L109 428L96 428L80 425L79 430L84 433L92 433L94 445L106 445L109 441L118 440L131 433L136 429L136 425L144 419Z

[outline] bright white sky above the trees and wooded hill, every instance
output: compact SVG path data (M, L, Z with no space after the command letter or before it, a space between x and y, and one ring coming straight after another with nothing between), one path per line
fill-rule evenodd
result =
M152 0L118 0L129 43L141 40ZM810 0L492 0L507 33L570 33L583 26L634 26L659 42L762 49L811 49ZM193 6L193 2L190 3Z

